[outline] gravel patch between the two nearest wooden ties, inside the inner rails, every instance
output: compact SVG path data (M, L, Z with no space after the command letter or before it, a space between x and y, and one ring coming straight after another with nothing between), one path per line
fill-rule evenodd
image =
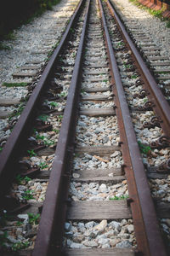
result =
M133 220L67 222L63 243L71 248L136 247Z

